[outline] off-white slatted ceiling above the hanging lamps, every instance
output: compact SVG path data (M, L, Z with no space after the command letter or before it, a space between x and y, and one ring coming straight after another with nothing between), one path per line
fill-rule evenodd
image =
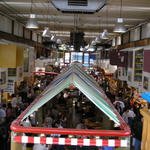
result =
M150 19L150 0L122 0L122 17L127 28L138 25ZM99 12L95 14L69 14L58 11L49 0L33 0L32 13L37 14L41 32L48 26L50 30L69 37L69 32L74 30L76 18L77 30L86 33L86 38L93 38L107 28L113 35L116 19L120 14L121 0L108 0ZM5 13L19 22L26 24L31 12L31 0L0 0L0 12ZM64 34L65 33L65 34ZM59 35L61 35L59 33Z

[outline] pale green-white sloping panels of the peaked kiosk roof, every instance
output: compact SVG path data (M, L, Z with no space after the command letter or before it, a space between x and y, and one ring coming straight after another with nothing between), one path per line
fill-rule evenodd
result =
M40 96L33 102L31 109L26 112L22 120L27 118L34 111L70 85L74 85L78 88L101 111L103 111L117 125L120 125L120 120L116 115L116 109L110 104L106 95L99 88L94 78L88 75L78 63L72 64L66 71L59 74L50 85L47 86L42 94L40 94Z

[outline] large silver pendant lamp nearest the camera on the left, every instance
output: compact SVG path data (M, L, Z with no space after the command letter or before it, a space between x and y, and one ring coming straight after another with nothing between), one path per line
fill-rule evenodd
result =
M38 28L38 22L36 20L36 15L33 14L32 12L32 5L33 1L31 0L31 9L30 9L30 16L26 24L26 28L28 29L37 29Z

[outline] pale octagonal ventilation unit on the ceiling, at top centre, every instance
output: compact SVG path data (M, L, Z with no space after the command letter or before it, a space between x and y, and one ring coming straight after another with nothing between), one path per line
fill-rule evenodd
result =
M68 13L95 13L99 11L107 0L50 0L61 12Z

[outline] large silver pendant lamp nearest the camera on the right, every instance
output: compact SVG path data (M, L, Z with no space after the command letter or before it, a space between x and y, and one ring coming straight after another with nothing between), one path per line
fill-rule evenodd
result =
M126 28L125 28L125 25L123 23L123 18L122 18L122 0L121 0L121 6L120 6L120 17L117 18L117 23L115 25L114 32L116 33L126 32Z

